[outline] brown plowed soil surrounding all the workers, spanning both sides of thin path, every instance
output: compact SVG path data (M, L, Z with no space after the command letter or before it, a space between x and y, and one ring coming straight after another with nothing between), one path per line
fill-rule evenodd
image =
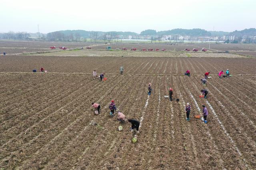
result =
M0 169L255 169L255 65L254 58L2 56ZM42 66L47 73L32 72ZM226 68L233 76L219 78ZM94 69L107 80L94 80ZM206 71L212 78L203 86ZM172 102L164 98L170 87ZM112 99L140 120L137 143L128 121L110 117ZM202 105L207 124L194 118Z

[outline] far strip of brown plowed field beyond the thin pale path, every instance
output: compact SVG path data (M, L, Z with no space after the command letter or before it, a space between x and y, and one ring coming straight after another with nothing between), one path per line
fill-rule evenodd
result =
M204 54L207 56L208 54ZM211 53L209 54L211 55ZM6 56L0 57L0 72L31 72L42 66L48 72L83 72L94 69L98 74L119 73L124 66L128 74L218 74L228 68L231 74L256 74L254 58L190 58L190 57L56 57L56 56Z

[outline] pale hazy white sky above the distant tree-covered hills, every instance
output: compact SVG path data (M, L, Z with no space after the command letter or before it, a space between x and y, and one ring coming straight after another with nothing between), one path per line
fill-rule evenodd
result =
M256 0L0 0L0 32L256 28Z

